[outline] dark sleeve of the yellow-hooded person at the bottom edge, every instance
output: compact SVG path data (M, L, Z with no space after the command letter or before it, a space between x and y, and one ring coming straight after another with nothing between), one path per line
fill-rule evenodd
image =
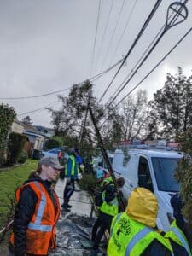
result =
M141 256L172 256L172 253L159 241L154 239L144 250Z

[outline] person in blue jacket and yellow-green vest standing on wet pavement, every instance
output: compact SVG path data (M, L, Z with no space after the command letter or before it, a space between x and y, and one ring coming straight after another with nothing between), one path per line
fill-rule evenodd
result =
M61 207L66 212L69 212L69 208L72 207L68 204L68 202L75 189L75 180L78 179L78 163L76 156L77 153L74 149L72 149L67 160L67 166L65 168L65 178L67 179L67 184L63 191L63 204Z

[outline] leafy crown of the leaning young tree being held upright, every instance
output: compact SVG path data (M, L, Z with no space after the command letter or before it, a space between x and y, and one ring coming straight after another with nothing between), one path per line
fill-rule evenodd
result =
M80 148L82 152L85 150L87 154L91 154L91 151L94 151L97 147L95 129L90 119L88 105L92 108L96 123L100 128L102 122L107 119L107 122L101 128L101 133L104 141L108 142L108 147L113 144L111 138L115 137L115 128L117 131L119 126L113 119L107 118L110 110L102 104L98 104L96 97L92 96L90 81L80 85L73 84L69 95L59 96L59 98L62 102L61 108L59 110L49 108L49 111L52 114L55 135L66 137L65 145L67 142L71 145L73 142L75 143L73 147ZM111 134L113 136L110 136Z

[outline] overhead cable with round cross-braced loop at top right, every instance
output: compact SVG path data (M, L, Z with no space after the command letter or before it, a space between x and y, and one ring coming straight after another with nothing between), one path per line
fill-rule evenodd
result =
M169 15L169 9L173 9L173 6L175 4L180 4L180 9L177 10L175 9L176 15L172 18L172 20L170 22L168 22L168 15ZM167 10L167 18L166 18L166 26L164 27L164 30L161 32L159 38L156 40L156 42L154 43L154 45L152 46L152 48L148 51L148 54L144 57L143 61L139 64L139 66L137 67L137 69L131 74L131 77L125 82L124 86L119 90L119 92L116 94L116 96L113 97L113 100L111 102L109 102L108 107L114 102L114 100L117 98L117 96L119 96L119 93L124 90L125 86L131 81L131 79L133 78L133 76L135 75L135 73L137 73L138 69L140 67L142 67L143 63L148 59L148 56L151 54L151 52L154 50L154 48L156 47L156 45L160 42L160 39L164 36L164 34L172 27L172 26L176 26L177 24L183 22L183 20L177 21L176 23L174 23L177 19L175 19L175 17L177 16L177 14L182 11L184 9L185 11L185 16L183 16L183 20L186 20L187 16L188 16L188 9L185 7L185 5L183 3L171 3L168 10ZM181 15L181 14L180 14ZM107 107L107 108L108 108Z

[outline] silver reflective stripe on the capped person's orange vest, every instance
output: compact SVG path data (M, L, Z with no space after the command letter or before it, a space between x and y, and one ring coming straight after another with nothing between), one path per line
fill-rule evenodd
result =
M46 197L44 195L44 191L41 189L40 185L38 182L32 182L34 183L38 189L41 191L41 201L40 201L40 204L39 204L39 207L38 207L38 213L37 213L37 217L36 217L36 220L35 220L35 223L32 223L30 222L28 224L28 228L31 229L31 230L39 230L39 231L45 231L45 232L50 232L53 228L52 225L43 225L41 224L41 221L42 221L42 218L43 218L43 215L44 215L44 208L46 206Z

